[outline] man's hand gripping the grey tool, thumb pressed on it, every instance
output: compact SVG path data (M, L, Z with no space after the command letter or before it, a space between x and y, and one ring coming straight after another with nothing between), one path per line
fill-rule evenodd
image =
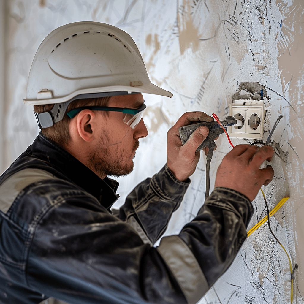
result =
M185 181L194 173L200 155L200 151L195 151L209 133L207 127L199 127L191 134L183 146L178 128L190 125L191 123L198 123L200 121L211 122L213 120L213 117L204 112L187 112L183 114L177 123L168 131L167 165L178 180ZM204 148L203 150L205 150L205 154L208 153L208 148Z

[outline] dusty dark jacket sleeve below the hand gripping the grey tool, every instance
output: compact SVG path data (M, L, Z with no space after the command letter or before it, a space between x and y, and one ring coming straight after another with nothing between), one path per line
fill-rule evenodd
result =
M119 210L119 218L130 224L145 244L153 245L166 230L189 184L189 178L185 182L176 179L166 164L133 189Z

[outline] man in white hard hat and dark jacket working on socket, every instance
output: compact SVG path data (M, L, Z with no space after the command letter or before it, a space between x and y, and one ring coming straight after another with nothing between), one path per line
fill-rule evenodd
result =
M273 178L273 150L238 145L218 168L215 189L178 235L164 233L199 161L201 127L182 146L178 128L212 121L185 113L168 131L167 164L110 208L147 136L141 92L150 83L122 30L98 22L55 29L40 45L25 103L42 132L0 178L0 301L196 303L246 238L250 203ZM245 185L245 186L244 186Z

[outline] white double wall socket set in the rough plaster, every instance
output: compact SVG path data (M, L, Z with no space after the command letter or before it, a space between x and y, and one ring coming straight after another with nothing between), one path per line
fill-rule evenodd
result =
M228 127L230 137L263 139L266 114L264 98L263 100L239 99L229 106L229 116L233 116L238 121L236 125Z

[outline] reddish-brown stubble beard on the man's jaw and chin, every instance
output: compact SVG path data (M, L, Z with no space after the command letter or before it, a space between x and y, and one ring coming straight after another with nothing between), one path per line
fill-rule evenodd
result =
M103 137L89 157L88 168L98 176L111 175L119 177L128 175L133 171L133 160L135 158L133 153L138 147L139 141L136 140L129 155L126 155L124 149L121 153L118 152L118 149L116 149L116 153L112 153L109 149L109 139Z

